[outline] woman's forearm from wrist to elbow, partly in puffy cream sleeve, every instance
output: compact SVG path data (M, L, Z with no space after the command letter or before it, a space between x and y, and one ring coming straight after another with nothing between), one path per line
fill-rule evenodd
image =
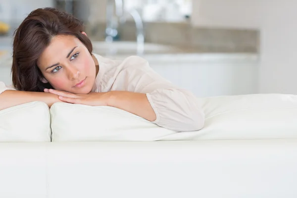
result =
M159 126L175 131L203 128L204 114L196 97L178 89L156 89L151 93L110 91L107 105L123 109Z

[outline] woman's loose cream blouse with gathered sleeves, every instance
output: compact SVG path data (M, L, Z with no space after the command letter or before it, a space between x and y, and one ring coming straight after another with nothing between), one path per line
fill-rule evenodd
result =
M174 131L196 131L204 125L204 113L198 99L153 71L139 56L114 60L94 54L99 73L92 92L129 91L146 94L156 120L153 123ZM13 90L0 82L0 94Z

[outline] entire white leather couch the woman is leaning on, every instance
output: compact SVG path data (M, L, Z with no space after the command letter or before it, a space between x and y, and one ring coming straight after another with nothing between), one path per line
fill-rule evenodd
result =
M297 197L297 96L199 101L183 133L106 106L1 110L0 198Z

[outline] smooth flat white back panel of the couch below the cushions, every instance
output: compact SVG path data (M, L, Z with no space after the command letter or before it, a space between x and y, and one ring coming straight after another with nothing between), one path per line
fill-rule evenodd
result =
M297 141L0 144L1 198L296 198Z

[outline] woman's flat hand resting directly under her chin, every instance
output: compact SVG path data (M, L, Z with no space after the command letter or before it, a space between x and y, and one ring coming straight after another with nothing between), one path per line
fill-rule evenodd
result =
M107 93L72 94L69 92L44 89L44 92L55 94L63 102L85 104L90 106L107 106L109 95Z

